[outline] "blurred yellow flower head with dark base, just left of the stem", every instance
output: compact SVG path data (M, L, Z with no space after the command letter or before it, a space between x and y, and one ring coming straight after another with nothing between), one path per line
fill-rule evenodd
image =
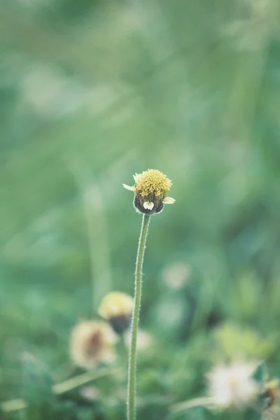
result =
M130 326L133 297L121 292L108 293L102 300L98 313L107 319L113 330L122 334Z

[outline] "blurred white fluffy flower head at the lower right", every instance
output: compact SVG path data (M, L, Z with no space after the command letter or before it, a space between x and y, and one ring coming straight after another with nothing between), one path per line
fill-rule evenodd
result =
M255 400L260 391L252 375L253 363L233 363L228 366L216 366L209 372L209 396L220 409L238 408Z

